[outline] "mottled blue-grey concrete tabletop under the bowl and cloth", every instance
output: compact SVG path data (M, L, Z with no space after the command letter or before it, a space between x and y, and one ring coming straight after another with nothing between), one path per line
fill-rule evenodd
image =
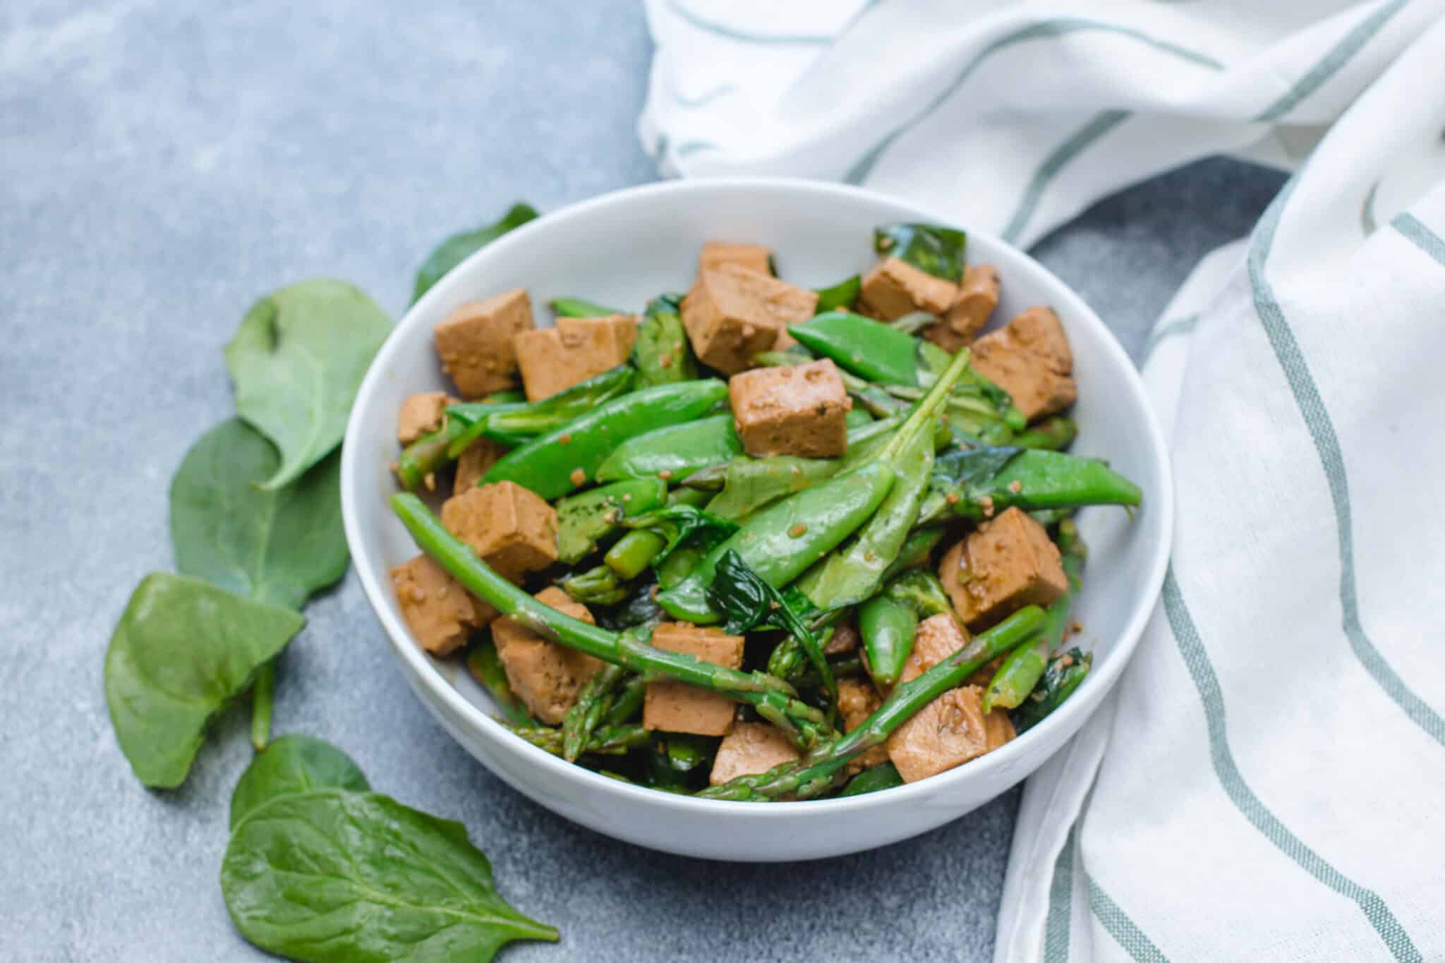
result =
M655 176L627 1L9 0L0 7L0 957L254 960L217 886L238 713L147 793L101 658L171 566L166 487L231 413L247 305L332 274L400 312L442 235ZM1270 172L1212 160L1038 245L1136 349L1191 264L1244 234ZM656 855L512 793L432 722L348 578L282 667L276 725L462 820L506 897L562 928L507 960L987 957L1016 793L887 849L746 866Z

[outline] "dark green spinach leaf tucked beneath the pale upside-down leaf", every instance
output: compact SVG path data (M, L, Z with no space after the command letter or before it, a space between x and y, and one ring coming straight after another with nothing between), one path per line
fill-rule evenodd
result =
M341 452L295 484L262 489L280 459L263 435L228 419L191 446L171 479L176 570L299 609L347 570L341 528Z

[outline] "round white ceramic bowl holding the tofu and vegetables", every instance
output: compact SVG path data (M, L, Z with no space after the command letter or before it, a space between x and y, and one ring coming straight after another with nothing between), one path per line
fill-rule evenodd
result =
M432 326L452 308L526 287L539 315L575 295L640 309L682 292L708 238L756 241L777 251L789 282L832 284L873 261L871 231L929 212L887 196L789 179L717 179L647 185L549 214L478 251L419 300L383 345L357 396L341 461L347 541L371 608L406 680L468 752L509 785L600 833L688 856L788 860L883 846L957 819L1014 785L1074 735L1118 679L1163 582L1173 494L1163 439L1129 357L1092 310L1022 251L970 232L968 258L1003 274L996 319L1052 305L1074 347L1079 437L1074 452L1105 456L1144 491L1133 521L1118 508L1079 515L1090 546L1078 619L1094 671L1040 725L980 759L912 785L851 798L720 803L639 788L527 745L491 718L491 703L457 661L426 655L396 606L387 569L416 554L392 515L396 413L416 391L448 387ZM962 227L968 227L967 224ZM549 323L538 318L539 325ZM996 321L997 323L997 321Z

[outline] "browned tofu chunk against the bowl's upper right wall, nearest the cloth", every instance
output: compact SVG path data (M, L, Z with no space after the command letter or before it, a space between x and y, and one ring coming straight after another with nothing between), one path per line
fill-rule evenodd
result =
M1030 422L1074 404L1074 354L1052 308L1030 308L974 342L974 370L1013 396Z

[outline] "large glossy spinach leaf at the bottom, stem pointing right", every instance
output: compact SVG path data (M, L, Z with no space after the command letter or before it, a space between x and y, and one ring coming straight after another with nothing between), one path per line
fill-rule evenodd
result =
M558 938L513 910L467 827L376 793L282 796L236 826L221 862L231 920L295 960L477 960Z

